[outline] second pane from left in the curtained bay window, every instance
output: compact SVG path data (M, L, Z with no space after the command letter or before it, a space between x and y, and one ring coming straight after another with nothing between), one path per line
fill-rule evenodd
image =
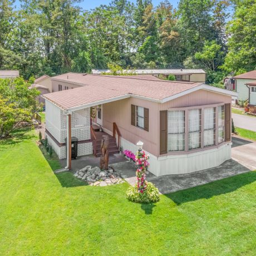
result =
M201 110L189 110L189 149L201 147Z

